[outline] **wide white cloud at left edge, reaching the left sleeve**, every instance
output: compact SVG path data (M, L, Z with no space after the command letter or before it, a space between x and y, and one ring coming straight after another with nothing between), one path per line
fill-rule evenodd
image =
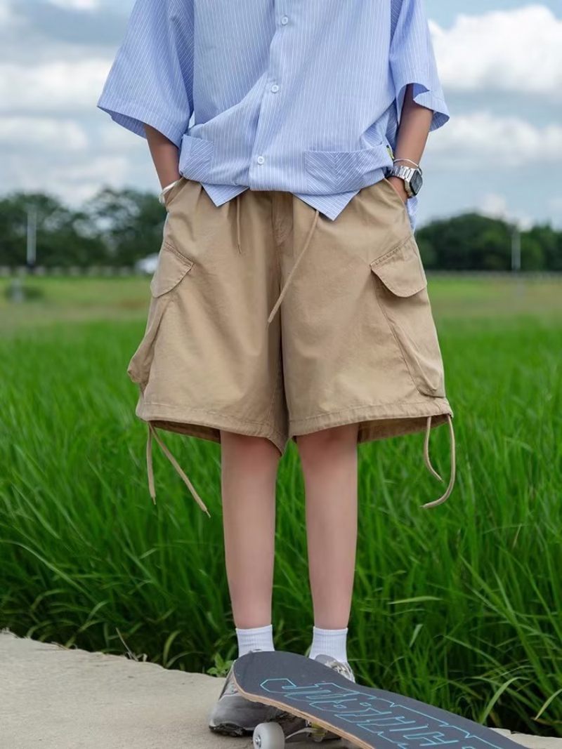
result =
M69 112L92 109L110 61L0 64L0 112Z

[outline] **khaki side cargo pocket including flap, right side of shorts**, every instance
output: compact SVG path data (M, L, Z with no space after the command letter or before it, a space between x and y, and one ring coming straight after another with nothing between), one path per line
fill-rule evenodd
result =
M423 395L444 398L441 349L414 234L373 260L370 266L378 302L415 386Z

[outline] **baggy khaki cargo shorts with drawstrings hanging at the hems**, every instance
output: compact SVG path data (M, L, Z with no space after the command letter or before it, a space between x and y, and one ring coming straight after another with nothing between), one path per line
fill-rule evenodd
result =
M145 336L127 373L158 429L220 442L267 437L282 455L299 434L358 423L357 441L448 422L426 275L402 198L386 178L335 220L291 192L250 190L217 207L197 181L166 194L166 222ZM295 440L296 441L296 440Z

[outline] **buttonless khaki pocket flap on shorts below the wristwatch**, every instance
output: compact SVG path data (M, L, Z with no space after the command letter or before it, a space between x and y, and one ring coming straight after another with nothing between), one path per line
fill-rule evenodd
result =
M413 236L370 263L371 270L397 297L411 297L426 288L426 273Z

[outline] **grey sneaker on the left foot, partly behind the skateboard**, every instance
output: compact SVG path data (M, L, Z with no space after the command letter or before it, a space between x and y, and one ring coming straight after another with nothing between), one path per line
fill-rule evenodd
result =
M258 650L262 648L256 648L251 652ZM234 661L226 675L223 690L209 713L208 726L211 731L225 736L244 736L253 733L259 723L273 721L280 712L274 706L253 702L243 697L232 676L233 669Z

